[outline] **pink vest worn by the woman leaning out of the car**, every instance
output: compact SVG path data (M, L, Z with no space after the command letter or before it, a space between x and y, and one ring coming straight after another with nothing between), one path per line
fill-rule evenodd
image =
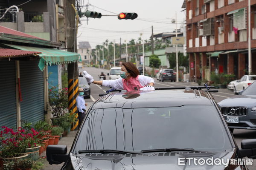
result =
M144 87L139 82L139 76L137 76L136 78L131 77L128 80L122 79L122 83L124 90L127 91L139 91L140 88Z

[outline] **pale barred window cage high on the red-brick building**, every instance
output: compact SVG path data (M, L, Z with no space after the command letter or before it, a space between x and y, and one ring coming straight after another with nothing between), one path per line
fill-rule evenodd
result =
M246 8L239 9L233 14L233 26L239 30L247 28L247 10Z

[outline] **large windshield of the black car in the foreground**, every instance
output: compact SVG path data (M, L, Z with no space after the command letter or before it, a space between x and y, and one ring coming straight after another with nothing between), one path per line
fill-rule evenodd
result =
M214 106L106 108L88 113L76 150L232 149Z

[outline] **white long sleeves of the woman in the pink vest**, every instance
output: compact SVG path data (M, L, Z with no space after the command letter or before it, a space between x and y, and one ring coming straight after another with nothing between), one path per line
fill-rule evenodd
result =
M146 86L151 82L154 83L154 79L148 76L139 75L138 79L142 86ZM107 86L115 89L124 89L122 84L122 78L115 79L115 80L103 80L102 86Z

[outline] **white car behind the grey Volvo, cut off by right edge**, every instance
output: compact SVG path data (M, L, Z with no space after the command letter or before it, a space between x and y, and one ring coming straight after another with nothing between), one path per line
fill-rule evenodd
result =
M250 84L256 81L256 75L244 75L234 87L234 94L238 94L239 91L246 89Z

